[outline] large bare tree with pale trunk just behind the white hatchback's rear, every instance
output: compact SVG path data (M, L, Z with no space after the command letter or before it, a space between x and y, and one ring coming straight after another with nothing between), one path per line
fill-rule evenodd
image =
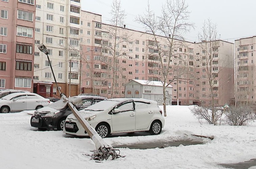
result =
M149 2L146 13L136 17L136 21L144 26L146 32L152 34L152 39L148 45L153 46L151 48L153 54L149 54L148 57L150 58L150 55L158 57L158 64L160 65L158 70L161 75L160 80L163 83L164 116L166 116L166 87L187 73L187 69L184 69L185 60L182 65L183 58L180 57L182 53L177 53L175 50L186 46L183 34L193 27L193 24L188 21L189 14L185 0L167 0L162 7L160 17L156 16L154 11L150 9ZM163 36L160 37L157 34ZM172 61L175 61L173 63L176 64L172 64ZM177 61L179 63L181 61L180 66L176 66Z

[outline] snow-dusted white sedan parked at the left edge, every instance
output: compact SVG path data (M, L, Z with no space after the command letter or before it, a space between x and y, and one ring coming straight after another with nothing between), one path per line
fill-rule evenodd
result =
M49 104L49 99L36 93L11 93L0 99L0 113L37 110Z

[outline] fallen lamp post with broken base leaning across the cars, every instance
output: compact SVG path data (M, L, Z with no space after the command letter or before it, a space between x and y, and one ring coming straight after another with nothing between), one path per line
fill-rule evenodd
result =
M76 109L75 105L69 101L69 99L66 97L66 95L64 93L61 93L54 72L52 70L52 66L51 66L51 62L48 56L48 51L46 46L44 46L43 44L38 45L38 48L40 51L44 52L47 55L47 59L49 61L49 65L52 71L52 75L55 81L55 84L57 86L57 90L60 93L60 96L67 101L69 108L71 109L72 113L75 115L75 117L77 118L77 120L79 121L79 123L83 126L83 128L85 129L85 131L87 132L87 134L90 136L90 138L92 139L92 141L95 144L96 150L94 150L94 154L89 155L89 154L85 154L87 156L91 156L92 159L94 160L99 160L99 161L103 161L103 160L114 160L117 159L119 157L123 157L119 154L116 153L115 149L112 146L109 146L106 142L104 142L104 140L98 135L98 133L95 131L95 129L85 120L85 118L83 118L83 116L78 112L78 110Z

